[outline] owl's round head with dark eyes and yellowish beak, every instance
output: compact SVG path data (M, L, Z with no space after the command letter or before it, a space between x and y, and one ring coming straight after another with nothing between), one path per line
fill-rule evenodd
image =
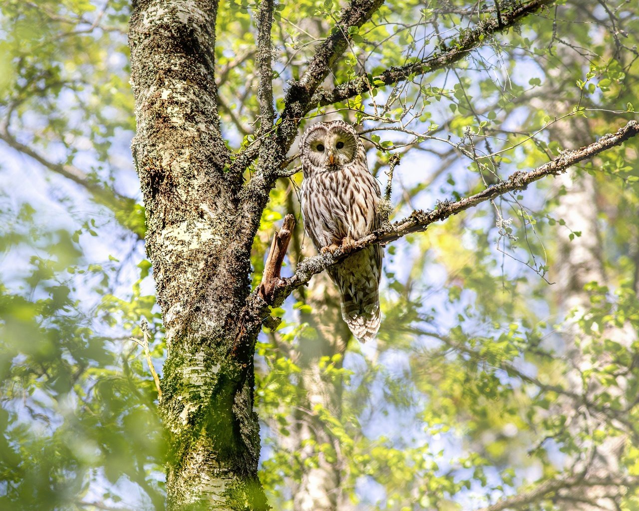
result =
M361 145L357 132L344 121L315 123L300 141L302 164L314 172L337 170L355 160ZM304 169L305 174L309 171Z

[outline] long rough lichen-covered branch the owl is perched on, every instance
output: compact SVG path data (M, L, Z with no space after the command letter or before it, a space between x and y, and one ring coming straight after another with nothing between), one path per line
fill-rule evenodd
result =
M327 253L309 257L298 264L293 277L281 280L280 286L273 291L273 301L269 305L281 305L284 299L291 294L294 289L305 286L313 275L320 273L328 266L332 266L346 259L348 255L363 250L373 243L389 243L390 241L395 241L406 236L406 234L425 231L428 225L439 222L440 220L445 220L448 217L452 217L452 215L457 215L461 213L461 211L477 206L477 204L481 202L491 201L495 199L495 197L509 192L525 190L530 183L534 183L534 181L538 179L544 178L545 176L557 176L565 172L569 167L583 160L592 158L601 153L601 151L619 146L627 139L636 135L639 135L639 123L637 123L637 121L630 121L626 126L620 128L617 133L603 135L601 139L597 142L593 142L589 146L574 149L573 151L563 151L555 160L541 165L541 167L537 167L537 169L530 172L514 172L514 174L505 181L500 181L500 183L486 188L478 194L470 195L470 197L465 197L456 202L443 201L438 204L436 210L413 211L408 217L403 218L403 220L399 220L393 224L383 225L381 229L374 231L366 236L366 238L358 240L355 243L355 247L348 252L348 254L339 248L333 255Z

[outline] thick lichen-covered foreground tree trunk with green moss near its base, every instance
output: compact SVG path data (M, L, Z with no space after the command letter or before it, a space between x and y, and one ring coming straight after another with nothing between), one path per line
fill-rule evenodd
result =
M170 444L169 510L268 508L252 408L259 324L237 321L250 260L234 242L245 239L236 236L242 176L224 172L216 14L213 0L137 1L130 22L132 149L166 327L160 413Z

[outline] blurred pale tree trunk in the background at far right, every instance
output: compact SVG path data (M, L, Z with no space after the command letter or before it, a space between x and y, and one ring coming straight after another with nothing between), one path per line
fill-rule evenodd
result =
M581 144L589 132L585 123L578 123L573 129L567 130L569 140L567 144ZM581 137L578 135L581 133ZM612 339L622 346L630 347L635 335L624 328L607 328L601 339L585 335L578 326L578 319L586 310L592 307L590 294L585 289L589 282L596 282L599 286L608 285L608 278L604 271L604 255L602 236L599 232L599 207L597 206L597 182L590 174L571 173L558 176L555 183L558 192L558 207L555 210L557 218L565 220L566 226L573 231L581 231L580 236L569 240L565 232L560 233L557 246L557 301L561 304L564 314L574 311L574 320L569 320L564 328L564 342L566 358L572 368L567 374L567 388L576 390L583 395L583 402L574 400L562 403L563 412L569 417L569 431L574 438L594 435L594 432L610 432L610 418L594 406L599 402L597 397L604 390L613 397L619 398L621 403L626 401L619 391L623 388L622 377L617 378L617 385L604 389L596 376L585 377L591 369L594 375L608 363L612 363L610 355L603 351L594 356L593 343L603 339ZM564 193L565 192L565 193ZM585 404L584 404L585 402ZM589 409L590 408L590 409ZM614 428L613 428L614 429ZM608 434L602 441L585 438L578 459L570 459L569 465L574 473L580 474L584 481L589 479L620 480L624 476L624 469L620 464L622 454L626 448L627 436ZM562 509L570 511L616 511L619 509L619 498L622 489L610 485L578 485L576 491L563 494Z

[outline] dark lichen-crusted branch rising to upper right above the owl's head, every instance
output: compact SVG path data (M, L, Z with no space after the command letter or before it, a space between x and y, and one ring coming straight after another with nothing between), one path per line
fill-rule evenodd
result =
M319 90L309 101L310 107L323 107L344 101L358 94L369 91L370 88L383 87L406 80L410 75L423 75L445 68L466 57L472 50L483 44L486 36L500 33L516 24L521 18L540 10L543 6L553 3L555 0L532 0L527 4L517 6L513 10L502 11L498 17L482 20L472 30L464 31L452 47L441 54L435 54L417 62L386 70L373 77L370 83L367 76L360 76L337 86L332 91ZM304 112L305 114L306 112ZM303 115L303 114L302 114Z

